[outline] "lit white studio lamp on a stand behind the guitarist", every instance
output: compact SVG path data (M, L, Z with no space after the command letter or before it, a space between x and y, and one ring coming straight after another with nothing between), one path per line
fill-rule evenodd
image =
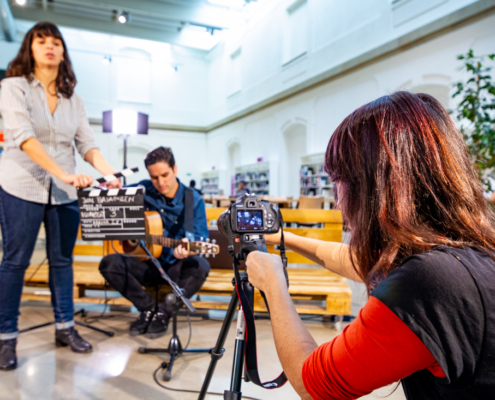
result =
M148 114L131 110L103 111L103 133L115 133L124 139L124 169L127 168L127 139L148 134ZM124 185L126 184L124 177Z

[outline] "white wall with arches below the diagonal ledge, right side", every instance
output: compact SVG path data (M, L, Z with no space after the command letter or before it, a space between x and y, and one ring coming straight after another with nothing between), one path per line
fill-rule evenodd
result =
M491 15L222 126L208 133L209 163L225 168L228 146L236 141L241 165L253 163L257 157L280 161L280 193L288 194L292 188L285 186L290 177L284 168L284 132L291 126L305 127L307 153L315 154L325 152L332 132L349 113L393 91L430 91L452 106L447 94L452 93L452 83L463 76L457 55L471 48L477 54L492 53L493 43L495 16Z

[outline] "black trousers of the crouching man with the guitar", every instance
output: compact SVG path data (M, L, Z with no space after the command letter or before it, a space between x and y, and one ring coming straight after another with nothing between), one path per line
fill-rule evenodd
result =
M210 264L199 256L177 260L174 264L160 261L165 272L183 289L184 296L192 297L210 272ZM157 307L143 286L167 284L151 261L141 261L136 257L110 254L101 260L100 272L107 282L122 296L132 302L139 311L154 311ZM166 302L158 305L160 311L172 314L172 307Z

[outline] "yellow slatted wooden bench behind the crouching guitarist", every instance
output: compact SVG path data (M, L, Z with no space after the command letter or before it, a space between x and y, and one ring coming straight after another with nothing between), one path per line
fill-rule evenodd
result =
M216 221L225 209L207 208L208 224ZM342 217L339 211L334 210L293 210L282 209L285 222L318 221L324 224L323 228L286 228L288 232L298 235L331 241L342 240ZM123 297L102 294L105 289L105 280L98 271L99 260L111 252L109 244L103 242L83 242L78 239L74 249L74 300L84 303L107 302L114 305L130 305ZM106 249L105 249L106 247ZM227 251L227 249L223 249ZM277 253L274 246L268 246L268 251ZM287 252L290 264L314 264L311 260L292 251ZM48 286L48 265L32 265L26 272L27 286ZM227 266L228 268L228 266ZM351 313L351 290L347 281L323 268L288 268L289 293L295 300L296 309L303 314L320 315L349 315ZM214 301L211 296L230 296L233 290L233 271L228 269L212 269L206 282L198 292L199 300L192 301L198 309L227 309L227 301ZM166 286L162 286L166 288ZM108 286L107 290L112 290ZM96 295L89 290L98 290ZM163 289L166 293L167 289ZM162 293L163 295L163 293ZM205 297L208 297L205 298ZM44 290L38 293L24 293L24 300L49 300L49 293ZM255 292L255 311L266 311L258 291Z

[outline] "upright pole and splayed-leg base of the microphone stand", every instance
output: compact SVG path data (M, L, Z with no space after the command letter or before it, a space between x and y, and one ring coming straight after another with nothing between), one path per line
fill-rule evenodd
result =
M177 335L177 314L179 312L179 309L182 307L183 303L180 298L175 296L175 294L170 293L167 295L166 300L168 304L170 304L173 307L173 314L172 314L172 338L170 339L170 342L168 344L168 348L166 349L156 349L156 348L146 348L146 347L140 347L138 349L139 353L141 354L148 354L148 353L168 353L170 354L170 361L168 362L167 365L167 370L163 374L163 380L164 381L169 381L172 378L172 368L174 366L175 360L179 358L182 353L210 353L212 349L184 349L182 348L182 344L180 342L179 336Z

